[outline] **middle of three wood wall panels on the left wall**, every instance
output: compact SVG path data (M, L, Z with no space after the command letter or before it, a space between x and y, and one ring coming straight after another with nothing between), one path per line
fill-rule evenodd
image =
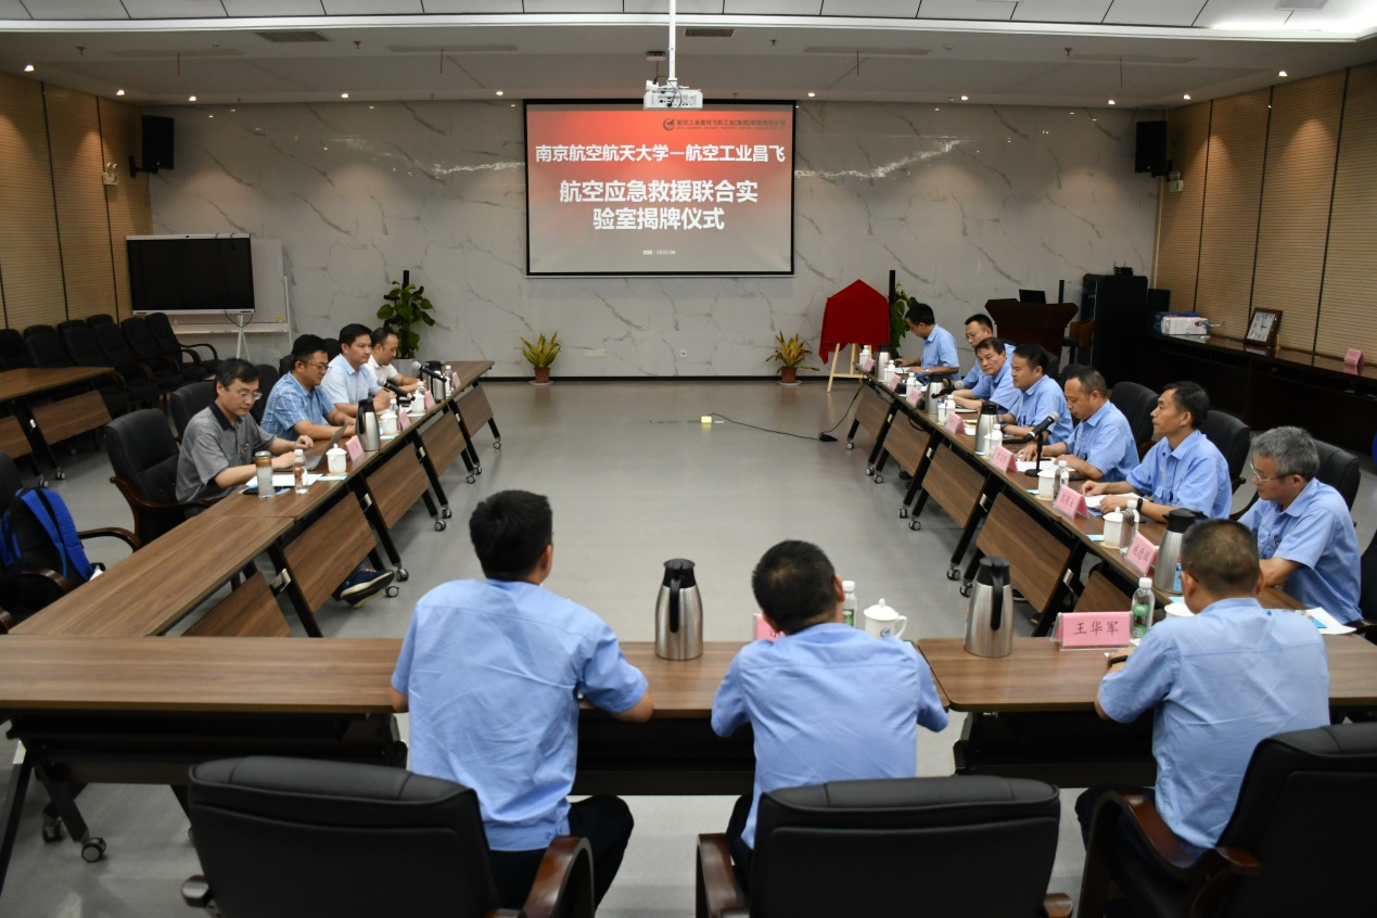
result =
M110 226L101 171L105 154L96 99L85 92L44 87L48 149L62 244L67 317L114 312Z

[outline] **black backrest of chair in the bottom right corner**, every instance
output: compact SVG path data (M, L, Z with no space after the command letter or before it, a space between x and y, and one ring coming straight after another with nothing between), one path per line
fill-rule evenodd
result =
M1315 834L1323 813L1323 834ZM1367 851L1377 824L1377 724L1279 734L1253 751L1220 845L1261 864L1237 878L1217 915L1371 914L1371 877L1333 870L1334 852Z

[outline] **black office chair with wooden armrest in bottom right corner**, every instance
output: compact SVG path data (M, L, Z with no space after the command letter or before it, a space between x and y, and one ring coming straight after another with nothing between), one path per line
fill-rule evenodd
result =
M1153 863L1122 844L1121 823ZM1370 874L1336 870L1334 852L1367 851L1373 824L1377 724L1281 734L1257 745L1232 819L1198 860L1144 797L1106 794L1095 809L1078 914L1103 915L1114 879L1133 915L1153 918L1367 915Z

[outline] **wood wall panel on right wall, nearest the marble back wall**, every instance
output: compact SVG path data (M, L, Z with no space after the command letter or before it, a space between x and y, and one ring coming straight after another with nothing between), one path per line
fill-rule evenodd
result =
M1209 142L1209 102L1173 109L1166 116L1166 157L1184 178L1184 191L1162 191L1157 233L1154 286L1172 292L1172 308L1195 308L1199 266L1201 208L1205 204L1205 147Z

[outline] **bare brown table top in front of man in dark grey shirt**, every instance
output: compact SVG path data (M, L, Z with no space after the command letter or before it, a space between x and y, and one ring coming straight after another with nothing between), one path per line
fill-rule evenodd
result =
M160 634L266 551L291 524L289 519L201 513L21 622L14 633Z

